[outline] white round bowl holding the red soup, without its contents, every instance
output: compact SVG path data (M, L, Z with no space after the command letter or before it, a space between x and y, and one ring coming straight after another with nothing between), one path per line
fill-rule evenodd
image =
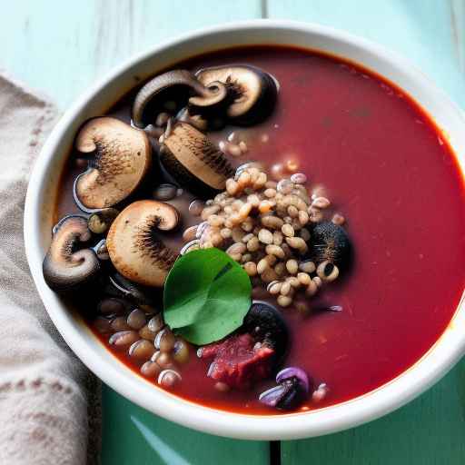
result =
M305 413L260 416L230 413L183 401L130 371L45 284L42 261L50 242L57 186L74 135L83 122L104 114L122 95L158 70L194 54L234 45L298 45L362 64L400 86L442 129L464 170L465 119L428 78L397 54L359 37L320 25L256 20L213 27L154 47L116 69L63 116L35 163L25 203L25 246L35 285L54 324L77 356L106 384L131 401L196 430L249 440L318 436L373 420L401 407L438 381L465 350L465 306L439 341L394 380L361 397Z

